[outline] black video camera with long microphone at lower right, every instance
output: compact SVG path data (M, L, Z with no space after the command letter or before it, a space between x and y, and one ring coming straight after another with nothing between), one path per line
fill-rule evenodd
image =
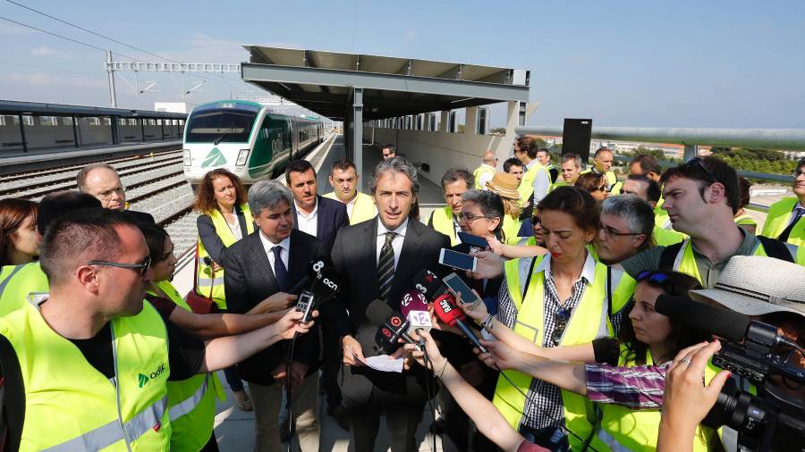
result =
M693 329L724 338L713 364L751 381L758 389L758 395L750 394L730 379L702 423L738 431L740 450L792 450L793 445L805 444L805 403L778 394L779 389L768 381L776 376L786 386L788 381L805 384L805 369L787 363L792 348L801 347L785 339L773 325L687 297L660 295L655 309Z

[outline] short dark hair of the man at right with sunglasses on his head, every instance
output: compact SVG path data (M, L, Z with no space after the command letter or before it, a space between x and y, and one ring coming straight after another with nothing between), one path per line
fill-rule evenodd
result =
M738 212L741 197L738 172L735 172L732 166L724 163L720 158L712 155L697 158L699 160L691 160L688 163L681 163L679 166L665 170L662 177L660 177L660 183L665 184L668 180L677 178L696 180L699 182L699 195L702 201L707 201L704 197L705 188L719 182L724 185L726 190L727 205L733 209L733 214Z

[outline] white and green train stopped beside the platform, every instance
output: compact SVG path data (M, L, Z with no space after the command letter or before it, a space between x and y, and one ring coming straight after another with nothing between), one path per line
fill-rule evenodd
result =
M284 171L324 139L321 121L271 112L266 105L223 100L194 108L184 127L184 177L198 187L225 168L245 185Z

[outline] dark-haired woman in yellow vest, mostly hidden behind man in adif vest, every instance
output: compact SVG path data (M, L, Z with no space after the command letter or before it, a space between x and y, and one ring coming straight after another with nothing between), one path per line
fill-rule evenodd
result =
M171 284L176 263L174 242L161 226L140 224L151 255L154 279L148 283L146 299L167 318L201 339L254 331L279 320L296 298L277 293L255 306L249 314L194 314ZM213 423L216 396L224 400L224 389L214 373L199 374L183 381L168 381L168 410L173 433L171 449L177 451L216 450Z

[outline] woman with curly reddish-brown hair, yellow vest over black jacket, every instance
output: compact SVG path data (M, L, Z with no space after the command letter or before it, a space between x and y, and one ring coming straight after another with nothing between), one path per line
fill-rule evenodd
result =
M200 213L196 221L199 228L196 288L199 295L212 298L222 311L226 309L226 300L221 256L227 247L254 231L246 202L241 179L218 168L204 175L193 203L193 209ZM237 406L251 411L251 400L235 368L230 367L224 373Z

